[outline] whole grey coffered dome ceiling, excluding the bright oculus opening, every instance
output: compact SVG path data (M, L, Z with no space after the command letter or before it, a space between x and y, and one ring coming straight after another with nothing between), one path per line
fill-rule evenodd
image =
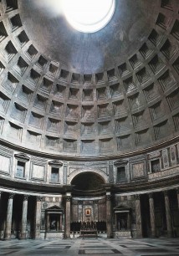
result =
M0 2L2 140L92 157L178 136L178 1L117 0L96 33L70 28L50 2Z

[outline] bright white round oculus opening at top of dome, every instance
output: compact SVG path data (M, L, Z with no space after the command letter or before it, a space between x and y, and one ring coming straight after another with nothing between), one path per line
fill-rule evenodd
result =
M62 8L73 28L94 33L110 22L115 12L115 0L62 0Z

